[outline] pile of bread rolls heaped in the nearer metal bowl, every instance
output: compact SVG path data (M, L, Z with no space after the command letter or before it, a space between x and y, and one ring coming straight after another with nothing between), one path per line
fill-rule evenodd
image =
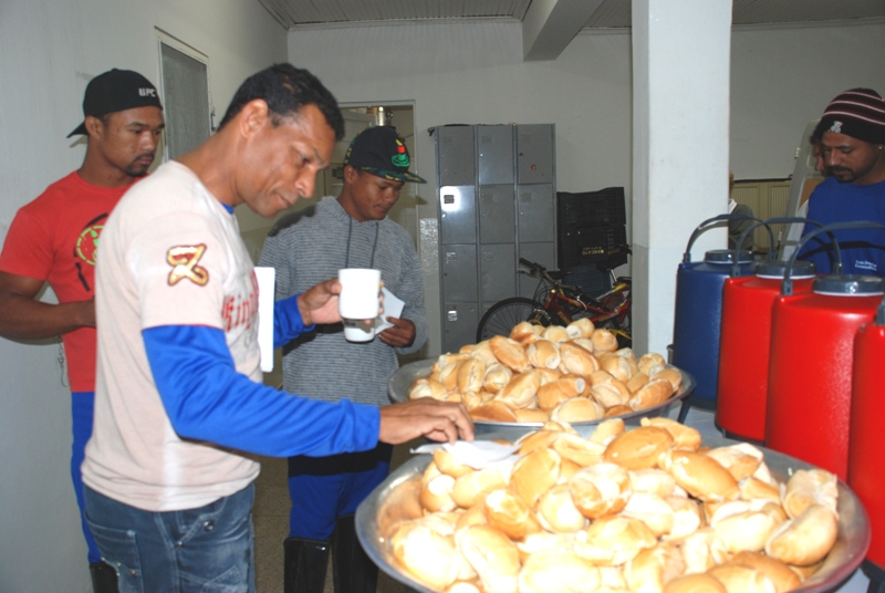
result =
M517 445L483 469L435 451L424 516L385 542L407 574L451 593L783 593L836 541L835 476L779 483L756 447L705 448L668 418L586 439L549 423Z

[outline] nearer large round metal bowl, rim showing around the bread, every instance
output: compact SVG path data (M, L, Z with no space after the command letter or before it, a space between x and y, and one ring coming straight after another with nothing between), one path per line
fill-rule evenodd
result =
M579 430L587 436L592 428ZM498 435L489 435L499 438ZM722 437L705 437L704 444L710 447L735 445L737 440ZM793 457L760 447L766 455L766 464L779 480L785 481L796 469L813 466ZM425 593L434 593L399 566L387 548L387 539L402 521L421 516L418 503L420 478L433 459L429 455L418 455L397 468L356 509L356 533L363 549L381 570L407 586ZM836 543L823 562L821 569L802 586L794 590L801 593L825 593L839 589L861 565L870 548L871 528L861 501L842 481L839 481L839 535Z

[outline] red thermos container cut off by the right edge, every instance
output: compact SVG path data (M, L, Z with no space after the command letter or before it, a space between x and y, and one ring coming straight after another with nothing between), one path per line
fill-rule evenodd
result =
M851 435L848 438L848 486L864 503L873 541L867 560L885 566L885 303L876 321L857 331L854 339Z

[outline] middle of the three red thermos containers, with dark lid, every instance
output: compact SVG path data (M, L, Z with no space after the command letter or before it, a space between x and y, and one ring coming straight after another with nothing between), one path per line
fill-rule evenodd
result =
M884 288L877 277L819 275L813 292L774 299L767 447L847 478L854 336Z

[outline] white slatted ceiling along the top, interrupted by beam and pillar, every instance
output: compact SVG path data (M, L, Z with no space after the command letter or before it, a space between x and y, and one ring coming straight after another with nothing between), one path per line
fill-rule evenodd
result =
M288 30L302 25L438 19L523 22L532 0L258 0ZM535 4L550 4L535 0ZM583 29L629 28L629 0L559 0L596 8ZM885 18L885 0L733 0L733 24Z

